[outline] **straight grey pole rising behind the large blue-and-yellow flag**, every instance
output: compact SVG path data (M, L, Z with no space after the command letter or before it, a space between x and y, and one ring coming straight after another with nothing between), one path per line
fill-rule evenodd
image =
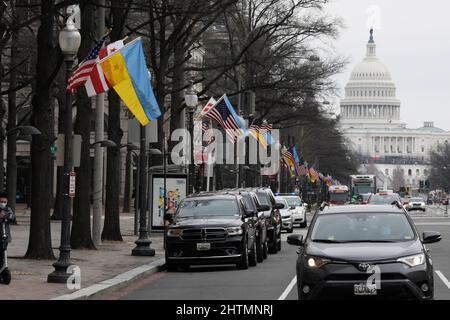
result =
M105 0L98 0L97 36L100 38L105 32ZM104 140L104 111L105 94L95 98L95 141ZM94 149L94 185L93 185L93 221L92 240L95 246L101 244L102 233L102 198L103 198L103 148L100 144ZM136 190L137 192L137 190Z

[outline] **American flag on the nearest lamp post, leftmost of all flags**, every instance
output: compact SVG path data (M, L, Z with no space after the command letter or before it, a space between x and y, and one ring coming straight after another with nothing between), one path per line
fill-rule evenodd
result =
M67 92L74 93L77 88L86 83L89 79L89 74L97 63L97 58L103 44L106 41L108 34L104 35L95 45L95 47L89 52L83 61L78 65L78 68L74 71L72 76L68 80Z

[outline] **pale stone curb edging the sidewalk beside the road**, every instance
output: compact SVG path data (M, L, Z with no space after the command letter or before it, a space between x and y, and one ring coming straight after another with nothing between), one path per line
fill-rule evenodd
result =
M112 279L104 280L90 287L78 290L74 293L65 294L50 300L88 300L95 296L105 293L111 293L120 288L123 288L133 281L141 279L145 276L151 275L162 270L165 266L165 259L159 259L149 264L144 264L140 267L119 274Z

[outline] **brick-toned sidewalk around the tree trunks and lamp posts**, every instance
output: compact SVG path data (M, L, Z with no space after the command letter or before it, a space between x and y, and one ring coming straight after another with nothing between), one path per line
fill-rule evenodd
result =
M47 283L47 275L56 261L24 259L28 247L30 212L24 206L16 209L18 225L11 226L12 242L8 246L8 265L12 272L11 284L0 283L0 300L3 299L51 299L71 294L65 284ZM156 250L154 257L135 257L131 250L137 236L133 235L134 214L121 213L120 228L123 242L103 242L97 250L72 250L71 261L81 270L81 289L109 280L142 265L164 258L163 234L152 233L151 247ZM51 222L52 246L55 257L59 256L61 222Z

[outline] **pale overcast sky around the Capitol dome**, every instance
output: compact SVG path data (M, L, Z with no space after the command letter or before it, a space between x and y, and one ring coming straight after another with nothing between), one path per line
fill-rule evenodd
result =
M402 121L408 128L433 121L450 131L450 1L332 0L326 11L345 24L332 43L350 58L337 77L342 96L351 70L365 56L367 25L374 24L377 56L397 86Z

